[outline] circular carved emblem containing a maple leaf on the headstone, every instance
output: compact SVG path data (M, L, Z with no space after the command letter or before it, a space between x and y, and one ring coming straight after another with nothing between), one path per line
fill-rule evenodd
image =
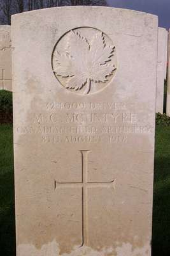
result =
M67 90L79 94L99 92L115 75L115 45L98 29L73 29L55 45L52 68L55 77Z

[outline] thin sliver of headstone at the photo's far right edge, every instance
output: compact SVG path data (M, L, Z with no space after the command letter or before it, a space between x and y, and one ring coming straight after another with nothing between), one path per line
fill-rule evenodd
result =
M168 33L168 47L167 47L167 101L166 101L166 115L170 116L170 29Z

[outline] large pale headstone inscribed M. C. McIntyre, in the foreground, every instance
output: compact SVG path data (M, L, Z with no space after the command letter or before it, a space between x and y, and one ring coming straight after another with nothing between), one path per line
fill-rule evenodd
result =
M12 18L17 256L150 256L155 15Z

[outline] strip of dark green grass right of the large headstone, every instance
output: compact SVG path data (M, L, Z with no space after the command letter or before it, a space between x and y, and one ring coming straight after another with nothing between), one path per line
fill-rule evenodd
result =
M157 125L153 194L153 256L170 255L170 127Z

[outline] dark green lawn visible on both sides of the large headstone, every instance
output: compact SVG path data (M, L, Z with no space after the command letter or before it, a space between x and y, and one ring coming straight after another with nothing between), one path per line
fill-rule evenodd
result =
M11 125L0 125L0 248L1 255L15 256L13 134ZM157 125L152 256L169 255L170 127Z

